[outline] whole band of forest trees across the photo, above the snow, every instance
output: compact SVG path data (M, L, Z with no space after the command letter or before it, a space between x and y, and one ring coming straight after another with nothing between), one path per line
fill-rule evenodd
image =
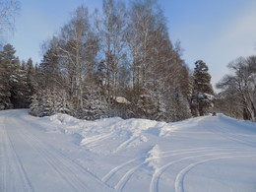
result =
M15 2L0 9L2 31L12 27ZM256 121L256 56L234 58L215 94L207 64L188 68L156 1L103 0L93 13L80 6L41 49L37 64L21 61L10 43L1 46L1 110L167 122L223 112Z

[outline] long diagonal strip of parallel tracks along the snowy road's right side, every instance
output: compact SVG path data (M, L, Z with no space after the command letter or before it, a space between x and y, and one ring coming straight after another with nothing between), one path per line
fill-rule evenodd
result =
M13 122L15 124L15 122ZM21 122L23 123L23 122ZM55 150L52 146L49 146L45 142L40 141L34 135L21 129L18 131L21 137L32 147L32 149L49 164L52 169L60 176L60 178L69 184L72 191L96 191L94 188L90 188L86 183L96 182L96 185L104 185L96 175L89 172L85 167L78 164L74 160L69 159L61 152ZM91 183L92 184L92 183ZM94 185L94 186L96 186ZM109 191L109 189L108 189Z

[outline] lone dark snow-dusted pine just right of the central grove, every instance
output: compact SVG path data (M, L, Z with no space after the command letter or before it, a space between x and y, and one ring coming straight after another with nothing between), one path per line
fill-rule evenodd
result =
M211 75L208 66L202 60L195 62L194 89L191 99L193 116L203 116L213 107L214 91L211 85Z

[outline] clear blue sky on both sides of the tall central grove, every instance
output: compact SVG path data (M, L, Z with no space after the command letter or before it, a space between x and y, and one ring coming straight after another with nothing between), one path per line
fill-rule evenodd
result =
M16 32L9 35L20 59L41 59L40 45L85 5L93 12L101 0L20 0ZM256 54L255 0L159 0L174 42L181 41L182 58L193 69L204 60L215 85L227 73L226 65L238 56Z

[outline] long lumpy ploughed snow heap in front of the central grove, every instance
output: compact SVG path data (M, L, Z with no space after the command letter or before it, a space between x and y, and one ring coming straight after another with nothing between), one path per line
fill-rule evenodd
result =
M48 117L65 134L80 135L80 146L100 153L118 153L124 149L136 148L148 142L147 134L159 136L165 122L147 119L122 119L119 117L98 119L95 121L79 120L67 114L55 114ZM108 139L116 141L116 148L103 143Z

